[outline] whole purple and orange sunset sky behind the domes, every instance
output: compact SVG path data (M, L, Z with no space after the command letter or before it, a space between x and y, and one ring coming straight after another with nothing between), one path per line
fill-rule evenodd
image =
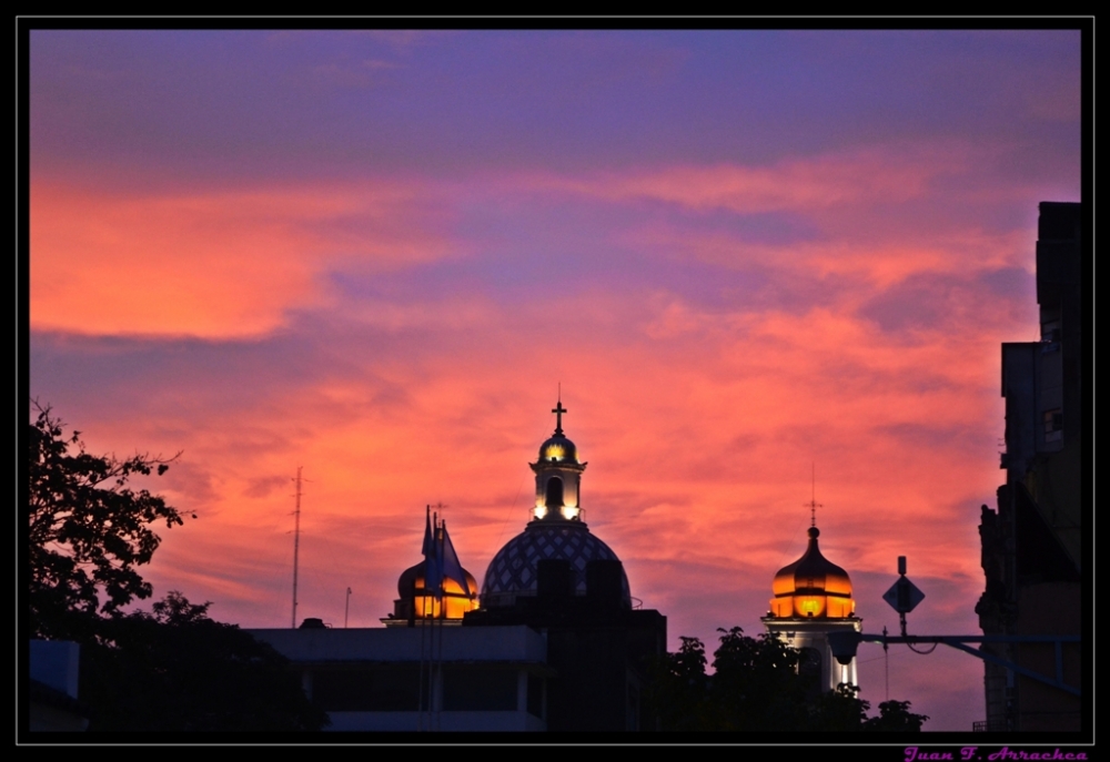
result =
M761 631L806 546L867 632L976 633L1000 344L1040 201L1080 200L1078 31L30 35L30 393L171 456L155 596L377 627L442 502L526 524L563 424L591 530L679 636ZM886 697L860 648L864 699ZM981 662L892 647L970 730Z

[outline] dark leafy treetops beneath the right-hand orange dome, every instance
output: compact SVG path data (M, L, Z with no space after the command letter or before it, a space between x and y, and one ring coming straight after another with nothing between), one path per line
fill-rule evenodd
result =
M801 653L778 638L749 638L738 627L719 632L713 674L697 638L683 638L678 652L655 666L649 700L663 730L914 732L929 719L910 712L908 701L885 701L879 717L868 718L857 687L821 692L814 675L799 673Z

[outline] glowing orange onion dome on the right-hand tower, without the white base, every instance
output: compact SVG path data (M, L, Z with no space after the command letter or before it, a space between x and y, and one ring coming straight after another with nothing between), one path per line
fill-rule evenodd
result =
M855 617L848 572L821 556L820 530L809 528L809 547L797 561L784 567L771 582L770 617L847 619Z

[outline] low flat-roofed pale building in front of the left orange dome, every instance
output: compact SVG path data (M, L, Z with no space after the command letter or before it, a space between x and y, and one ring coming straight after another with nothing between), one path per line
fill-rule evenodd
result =
M332 731L547 729L547 642L527 627L250 632L293 662Z

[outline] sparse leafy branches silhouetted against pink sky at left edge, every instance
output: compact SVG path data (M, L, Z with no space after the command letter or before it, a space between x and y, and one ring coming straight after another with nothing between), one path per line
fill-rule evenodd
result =
M160 521L173 527L182 517L161 497L132 490L128 480L161 476L172 458L90 455L80 431L65 435L49 407L33 405L39 416L28 440L31 633L80 640L91 634L98 614L150 597L150 585L135 570L158 549L150 527Z

